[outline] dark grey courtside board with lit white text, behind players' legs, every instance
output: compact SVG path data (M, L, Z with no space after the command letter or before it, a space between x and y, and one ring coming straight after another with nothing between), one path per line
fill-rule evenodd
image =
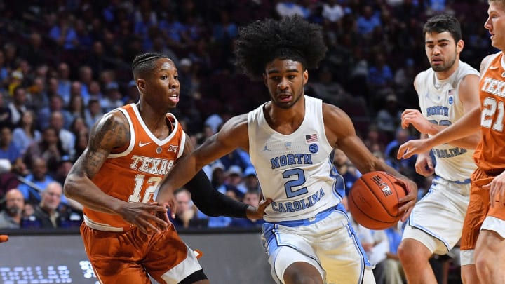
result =
M260 233L181 236L190 248L203 252L200 262L211 283L274 283ZM11 235L7 243L0 243L0 283L95 284L97 280L79 234Z

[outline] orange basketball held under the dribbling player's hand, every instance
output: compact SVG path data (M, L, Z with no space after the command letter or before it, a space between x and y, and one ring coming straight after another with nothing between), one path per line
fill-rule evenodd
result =
M402 217L398 200L406 189L396 177L386 172L370 172L354 182L349 191L349 212L354 220L368 229L387 229Z

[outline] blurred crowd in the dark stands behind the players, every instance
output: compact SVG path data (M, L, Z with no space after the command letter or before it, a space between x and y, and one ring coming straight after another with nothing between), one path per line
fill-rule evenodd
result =
M412 129L403 109L417 109L415 75L429 67L424 20L453 13L462 23L462 60L478 68L492 53L484 0L0 0L0 229L78 226L81 208L61 184L102 114L137 102L130 63L144 51L166 53L179 70L176 116L195 145L235 114L268 100L261 82L234 67L241 25L299 14L323 26L328 53L306 94L335 104L367 147L419 184L415 158L396 149ZM337 151L338 152L338 151ZM345 155L344 155L345 156ZM335 154L346 189L359 173ZM248 154L235 151L206 167L215 188L257 205L260 184ZM261 220L206 217L189 191L176 193L180 227L260 226Z

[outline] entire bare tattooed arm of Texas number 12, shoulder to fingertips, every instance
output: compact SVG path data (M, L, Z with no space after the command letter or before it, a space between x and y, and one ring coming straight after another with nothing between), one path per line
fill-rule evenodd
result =
M114 149L124 149L130 142L128 121L115 111L100 119L90 133L88 147L77 159L64 184L65 196L87 208L114 215L121 215L126 222L137 226L144 233L158 231L156 226L168 226L166 220L156 217L156 212L166 208L148 203L128 203L105 194L92 178L102 168L107 156ZM152 221L152 222L149 222ZM152 224L153 223L153 224Z

